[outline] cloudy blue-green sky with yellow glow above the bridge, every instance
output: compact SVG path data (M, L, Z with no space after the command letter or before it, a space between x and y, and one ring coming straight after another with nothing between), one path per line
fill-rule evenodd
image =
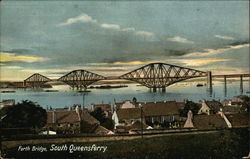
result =
M249 73L249 2L2 1L0 80L119 76L152 62Z

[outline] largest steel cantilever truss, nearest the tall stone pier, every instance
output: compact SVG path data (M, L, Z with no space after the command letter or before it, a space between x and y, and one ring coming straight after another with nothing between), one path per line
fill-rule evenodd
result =
M206 72L195 69L165 63L151 63L119 78L135 81L148 88L165 88L183 80L205 76L207 76Z

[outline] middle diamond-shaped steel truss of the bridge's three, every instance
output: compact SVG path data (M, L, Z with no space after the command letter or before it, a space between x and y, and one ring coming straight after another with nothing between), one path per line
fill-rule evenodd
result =
M74 70L58 80L70 85L72 88L86 89L92 83L104 79L106 79L104 76L86 70Z

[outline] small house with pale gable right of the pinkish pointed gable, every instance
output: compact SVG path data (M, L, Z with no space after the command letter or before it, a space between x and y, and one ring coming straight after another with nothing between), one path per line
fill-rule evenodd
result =
M202 101L198 114L217 114L223 105L219 101Z

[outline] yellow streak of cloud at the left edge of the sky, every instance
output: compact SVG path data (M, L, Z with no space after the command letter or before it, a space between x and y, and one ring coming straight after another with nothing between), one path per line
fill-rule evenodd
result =
M31 56L31 55L16 55L15 53L0 52L0 62L44 62L48 61L48 58Z

